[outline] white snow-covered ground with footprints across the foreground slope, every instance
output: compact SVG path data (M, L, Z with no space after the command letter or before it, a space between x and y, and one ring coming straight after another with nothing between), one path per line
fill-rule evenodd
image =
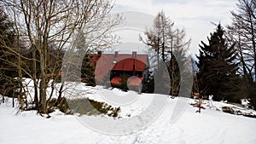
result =
M86 91L86 97L96 101L105 101L115 107L114 103L102 98L102 94L117 94L125 96L136 95L136 93L125 93L119 89L102 89L100 87L90 88L80 86L79 89ZM154 100L152 94L135 96L129 104L120 106L119 116L122 118L132 118L140 115ZM188 98L171 99L164 97L166 105L159 116L148 124L143 130L126 134L111 135L102 134L101 131L91 130L75 115L65 115L59 111L50 113L51 118L38 116L36 112L17 112L17 108L11 107L11 100L0 105L0 143L1 144L255 144L256 143L256 118L232 115L218 111L221 107L231 106L230 104L206 101L212 105L201 113L195 112L196 107L189 105L194 102ZM184 110L180 111L180 117L175 121L172 113L176 110L178 101L187 101ZM162 107L156 105L154 107ZM116 105L117 107L118 105ZM239 108L239 107L238 107ZM241 108L241 107L240 107ZM243 109L256 114L253 110ZM152 113L153 114L153 113ZM128 116L129 115L129 116ZM89 117L89 116L84 116ZM109 118L108 116L90 116L90 118L111 119L112 123L119 118ZM135 122L136 123L136 122ZM108 127L108 125L107 125Z

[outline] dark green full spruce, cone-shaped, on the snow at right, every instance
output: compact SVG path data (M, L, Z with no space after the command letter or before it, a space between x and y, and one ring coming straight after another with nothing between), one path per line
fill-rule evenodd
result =
M239 101L240 78L237 75L235 45L229 45L224 38L224 29L219 24L216 31L201 42L198 82L201 96L213 95L213 100Z

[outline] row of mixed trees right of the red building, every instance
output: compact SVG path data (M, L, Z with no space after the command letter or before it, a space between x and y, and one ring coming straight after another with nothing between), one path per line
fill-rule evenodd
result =
M160 93L172 96L184 96L188 93L181 90L191 86L189 75L193 75L192 95L207 99L212 95L214 101L241 103L247 99L250 106L256 108L256 2L238 0L236 11L231 11L232 23L228 26L216 25L216 30L207 37L207 42L199 44L200 52L195 57L187 54L190 40L185 39L183 30L175 29L174 22L164 12L154 19L154 26L146 30L143 43L153 49L157 64L160 60L167 66L168 73L160 73L160 79L169 82L160 84ZM189 65L189 62L191 62ZM190 67L181 69L181 66ZM160 68L156 68L157 73ZM154 78L152 78L154 79ZM187 81L187 82L186 82ZM149 84L154 87L154 80Z

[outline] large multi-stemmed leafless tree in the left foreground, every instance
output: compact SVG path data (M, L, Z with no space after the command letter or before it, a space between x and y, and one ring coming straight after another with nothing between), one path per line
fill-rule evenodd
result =
M1 4L9 14L14 15L16 32L19 32L19 37L25 41L26 46L32 49L32 58L28 58L33 61L32 72L24 71L34 82L34 101L38 112L48 113L47 99L53 94L51 92L47 95L47 89L49 85L54 89L56 80L50 79L53 76L57 76L54 79L59 78L61 73L61 53L73 48L72 42L79 32L89 36L96 30L102 30L99 37L90 37L90 42L84 42L89 44L90 48L95 49L91 43L96 43L99 39L102 43L98 43L97 46L107 43L107 33L111 31L111 27L118 24L111 22L103 26L102 23L113 8L113 1L11 0L3 1ZM86 29L83 29L84 27ZM55 52L52 53L52 50ZM52 54L55 55L55 59ZM59 97L63 91L63 84L59 89Z

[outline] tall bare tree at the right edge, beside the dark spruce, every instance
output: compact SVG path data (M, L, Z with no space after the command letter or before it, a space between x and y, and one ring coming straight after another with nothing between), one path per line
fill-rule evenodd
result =
M254 0L239 0L236 11L231 11L232 24L228 27L231 42L236 43L236 49L241 61L241 75L244 80L244 93L256 107L256 2Z

